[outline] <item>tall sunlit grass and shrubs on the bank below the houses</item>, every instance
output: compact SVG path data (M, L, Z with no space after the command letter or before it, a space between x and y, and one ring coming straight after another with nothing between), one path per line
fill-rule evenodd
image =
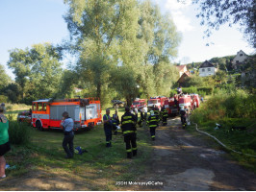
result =
M256 96L242 89L218 89L192 114L197 123L227 118L255 118Z

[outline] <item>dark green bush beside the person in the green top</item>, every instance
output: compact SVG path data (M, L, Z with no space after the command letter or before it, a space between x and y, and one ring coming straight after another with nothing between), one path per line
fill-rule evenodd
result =
M11 144L27 145L30 143L30 127L26 123L17 122L9 115L9 139Z

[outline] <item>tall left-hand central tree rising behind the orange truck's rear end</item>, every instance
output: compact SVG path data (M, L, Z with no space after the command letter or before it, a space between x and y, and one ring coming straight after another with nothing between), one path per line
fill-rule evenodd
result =
M108 87L110 69L116 65L116 47L123 28L134 20L135 0L65 0L69 10L65 15L73 46L80 56L79 75L96 88L102 97ZM125 26L126 25L126 26Z

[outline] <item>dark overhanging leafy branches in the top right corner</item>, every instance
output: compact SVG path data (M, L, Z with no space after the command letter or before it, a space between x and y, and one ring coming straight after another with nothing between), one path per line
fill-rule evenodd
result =
M240 24L248 42L256 47L256 3L255 0L193 0L199 4L197 17L201 18L201 25L207 25L207 36L212 30L218 30L225 23L232 26Z

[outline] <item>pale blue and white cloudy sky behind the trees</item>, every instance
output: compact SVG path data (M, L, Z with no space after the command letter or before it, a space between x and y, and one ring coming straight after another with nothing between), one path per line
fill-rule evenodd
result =
M182 34L178 57L172 61L186 64L236 55L240 50L248 55L255 52L243 39L239 26L222 26L210 38L203 38L206 27L200 26L191 0L186 0L187 4L177 0L152 2L159 5L163 14L170 14ZM57 44L67 39L69 34L63 18L65 12L67 6L63 0L0 0L0 63L12 79L13 72L7 66L9 50L30 48L32 44L44 42ZM213 44L206 46L208 42Z

